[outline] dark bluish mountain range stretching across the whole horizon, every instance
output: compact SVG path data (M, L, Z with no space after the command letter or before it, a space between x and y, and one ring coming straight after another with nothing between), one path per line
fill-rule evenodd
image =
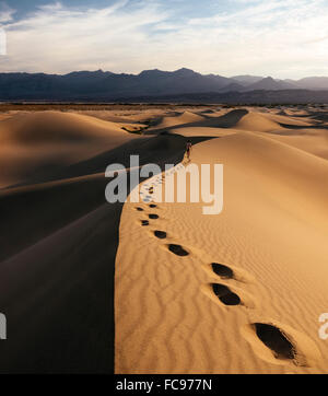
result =
M200 74L189 69L144 70L140 74L74 71L69 74L0 73L0 101L120 101L140 97L174 97L188 94L230 94L253 96L253 91L328 90L328 78L300 81L271 77L225 78ZM267 94L263 94L267 96ZM292 95L297 96L297 95Z

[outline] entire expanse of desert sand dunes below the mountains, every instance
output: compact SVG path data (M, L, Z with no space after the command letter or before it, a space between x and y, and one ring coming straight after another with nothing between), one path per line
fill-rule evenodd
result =
M222 213L157 202L189 164ZM0 167L1 373L328 373L328 108L2 108Z

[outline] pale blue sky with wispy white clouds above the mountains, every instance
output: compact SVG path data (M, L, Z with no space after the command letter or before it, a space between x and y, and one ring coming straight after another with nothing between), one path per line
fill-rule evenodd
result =
M0 0L0 72L328 75L328 0Z

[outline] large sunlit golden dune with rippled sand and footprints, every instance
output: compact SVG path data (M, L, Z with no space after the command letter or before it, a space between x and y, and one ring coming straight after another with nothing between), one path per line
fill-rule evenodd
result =
M245 129L277 128L245 117ZM247 131L194 148L192 163L215 162L218 217L195 203L124 207L116 372L327 373L328 162Z

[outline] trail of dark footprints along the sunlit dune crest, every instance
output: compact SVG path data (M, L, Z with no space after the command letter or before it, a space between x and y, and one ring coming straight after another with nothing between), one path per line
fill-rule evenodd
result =
M172 173L168 172L168 173ZM157 184L162 184L165 180L165 176L157 177L155 186ZM154 185L149 186L148 184L143 185L147 187L148 195L143 198L143 202L148 205L149 209L160 209L157 205L152 203L152 196L154 194ZM140 194L141 196L144 194ZM141 207L137 207L136 210L138 212L144 212L144 209ZM159 220L160 216L156 213L148 213L148 220L140 220L142 226L149 226L150 220ZM166 240L167 232L163 230L155 230L152 232L153 235L159 240ZM187 257L190 255L190 252L179 244L166 244L167 251L172 254L179 256L179 257ZM234 281L239 283L247 283L248 280L254 279L251 275L248 275L244 270L238 270L237 268L232 268L227 265L219 264L219 263L211 263L210 265L206 265L204 269L212 277L219 277L221 280L225 282ZM219 282L211 282L202 290L204 293L213 300L213 296L216 299L216 302L223 304L227 307L232 306L244 306L246 308L255 308L255 304L251 304L251 298L248 293L243 293L242 289L238 291L235 290L236 288L219 283ZM297 362L297 348L296 346L290 340L291 337L288 336L285 331L283 331L278 326L268 323L251 323L248 325L248 328L251 328L253 336L251 336L251 343L254 341L261 342L262 346L267 347L274 359L278 362L292 362L296 365L300 365ZM304 363L304 362L303 362ZM306 365L306 363L301 364Z

